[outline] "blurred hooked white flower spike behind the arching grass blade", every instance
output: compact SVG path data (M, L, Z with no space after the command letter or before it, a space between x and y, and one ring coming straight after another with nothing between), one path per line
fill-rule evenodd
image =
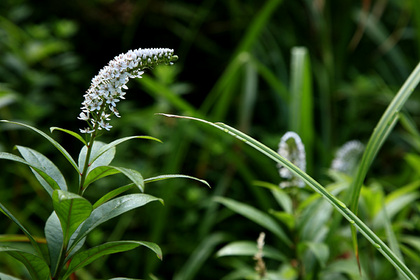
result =
M306 171L306 152L305 146L302 143L299 135L296 132L289 131L286 132L283 137L280 139L279 155L289 160L291 163L299 167L302 171ZM305 186L305 182L293 175L287 168L283 165L278 164L280 176L285 181L280 183L280 187L300 187Z

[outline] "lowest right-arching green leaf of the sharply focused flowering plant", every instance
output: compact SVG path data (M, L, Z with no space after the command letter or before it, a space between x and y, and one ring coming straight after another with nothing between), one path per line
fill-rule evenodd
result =
M97 260L100 257L105 255L120 253L132 250L139 246L146 246L156 253L159 259L162 259L162 251L160 247L151 242L144 241L114 241L101 244L99 246L93 247L89 250L79 252L75 254L70 262L70 265L67 269L66 274L63 277L63 280L67 279L72 273L76 270L85 267L91 262Z

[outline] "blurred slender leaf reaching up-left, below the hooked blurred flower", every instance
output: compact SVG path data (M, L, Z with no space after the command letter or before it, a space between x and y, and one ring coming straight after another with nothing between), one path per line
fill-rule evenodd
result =
M283 231L283 229L279 226L279 224L274 220L272 217L267 215L266 213L249 206L247 204L228 199L217 197L216 201L225 205L229 209L233 210L234 212L250 219L254 223L259 224L260 226L266 228L270 232L274 233L278 238L280 238L284 243L287 245L292 245L292 241Z

